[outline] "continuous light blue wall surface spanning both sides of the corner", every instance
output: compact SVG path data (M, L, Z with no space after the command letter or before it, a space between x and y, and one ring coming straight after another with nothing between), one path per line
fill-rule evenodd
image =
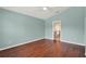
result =
M52 22L61 20L61 40L84 43L84 9L70 8L67 11L42 21L0 9L0 49L21 42L52 38Z

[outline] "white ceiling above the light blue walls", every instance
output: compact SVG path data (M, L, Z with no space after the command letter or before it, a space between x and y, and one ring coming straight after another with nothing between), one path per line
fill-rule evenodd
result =
M56 14L60 14L61 12L69 9L69 7L47 7L47 10L44 10L44 7L2 7L2 8L42 20L49 18Z

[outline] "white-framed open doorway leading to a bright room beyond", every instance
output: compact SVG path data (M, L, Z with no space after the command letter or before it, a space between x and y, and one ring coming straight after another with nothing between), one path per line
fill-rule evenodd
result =
M52 38L54 41L60 41L61 36L61 21L57 21L52 25Z

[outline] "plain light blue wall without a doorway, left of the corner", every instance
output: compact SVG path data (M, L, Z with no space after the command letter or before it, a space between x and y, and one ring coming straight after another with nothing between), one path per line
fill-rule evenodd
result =
M0 49L45 37L42 20L0 9Z

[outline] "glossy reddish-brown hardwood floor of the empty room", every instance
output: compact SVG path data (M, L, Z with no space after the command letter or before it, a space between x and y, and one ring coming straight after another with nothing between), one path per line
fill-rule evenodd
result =
M42 39L0 51L0 57L84 57L85 47Z

